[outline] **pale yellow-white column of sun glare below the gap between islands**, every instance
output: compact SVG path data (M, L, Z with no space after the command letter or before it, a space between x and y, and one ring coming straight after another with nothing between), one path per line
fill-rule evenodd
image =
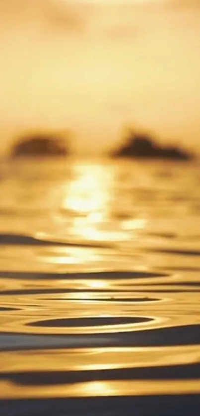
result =
M62 210L70 212L73 236L93 241L128 238L126 230L111 222L114 200L115 168L111 166L78 164L74 179L66 188Z

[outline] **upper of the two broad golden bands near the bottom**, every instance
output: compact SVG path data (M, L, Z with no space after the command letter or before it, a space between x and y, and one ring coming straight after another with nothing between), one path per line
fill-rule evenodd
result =
M198 346L39 349L0 353L0 374L13 372L94 371L200 364ZM50 368L51 365L51 368ZM145 371L145 370L144 370ZM185 372L186 374L186 372ZM197 374L198 376L198 374Z

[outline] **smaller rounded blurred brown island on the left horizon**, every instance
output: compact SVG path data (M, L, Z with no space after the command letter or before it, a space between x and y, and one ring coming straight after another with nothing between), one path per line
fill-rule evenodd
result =
M62 157L70 154L66 141L59 135L31 134L19 138L11 148L11 158Z

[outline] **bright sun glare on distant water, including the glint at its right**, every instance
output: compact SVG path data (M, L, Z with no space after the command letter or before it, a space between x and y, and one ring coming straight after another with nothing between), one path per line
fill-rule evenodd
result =
M79 162L73 166L72 178L60 205L64 221L65 215L70 216L71 236L101 243L127 241L146 227L145 218L133 218L133 209L125 214L132 206L131 196L119 198L119 172L114 164Z

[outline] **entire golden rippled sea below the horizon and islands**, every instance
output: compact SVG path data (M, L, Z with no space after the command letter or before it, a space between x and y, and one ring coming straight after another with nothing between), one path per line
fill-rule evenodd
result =
M200 412L200 165L0 165L0 415Z

